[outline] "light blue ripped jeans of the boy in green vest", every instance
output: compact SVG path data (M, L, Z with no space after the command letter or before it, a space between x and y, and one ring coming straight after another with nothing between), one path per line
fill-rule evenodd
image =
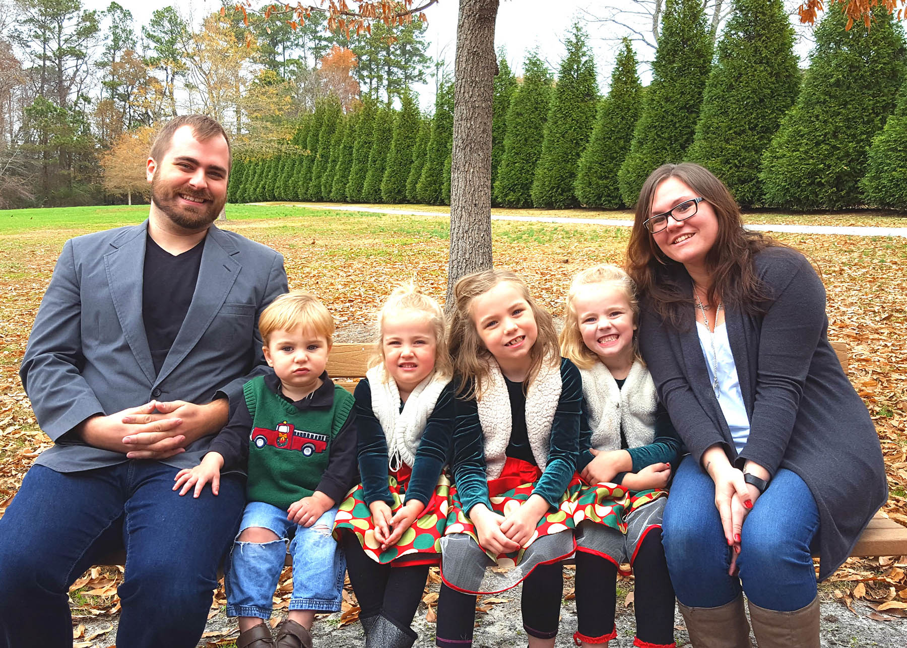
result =
M287 511L263 502L249 502L242 515L239 534L253 526L273 531L279 540L266 543L239 542L230 552L224 579L228 616L269 619L272 597L287 555L293 556L293 597L290 610L336 612L340 609L346 560L331 531L336 506L314 525L301 526L287 519ZM239 538L239 535L237 535Z

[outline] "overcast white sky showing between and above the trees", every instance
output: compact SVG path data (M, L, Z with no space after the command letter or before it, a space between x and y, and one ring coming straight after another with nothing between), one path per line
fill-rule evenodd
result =
M103 9L110 4L110 0L83 0L87 8ZM218 0L119 0L120 4L132 12L135 19L136 31L140 25L147 23L151 12L168 5L173 5L181 15L194 15L195 22L200 22L201 16L217 11L220 7ZM507 52L507 61L516 74L522 72L522 60L525 54L538 47L542 59L551 65L554 74L564 53L562 40L577 17L582 17L586 10L592 15L602 15L603 5L629 4L629 0L502 0L498 11L495 28L494 43L496 48L503 47ZM793 8L799 5L800 0L785 0L785 5ZM314 3L313 3L314 4ZM253 2L258 5L258 1ZM439 57L444 54L449 62L449 69L453 72L453 56L456 41L456 22L458 0L440 0L437 5L426 10L428 18L427 39L431 43L429 54ZM552 9L552 7L554 7ZM619 38L623 33L619 27L606 24L585 25L590 34L590 44L595 56L596 69L599 77L599 89L602 93L608 89L611 67L614 64ZM646 19L640 18L640 27L647 28ZM808 33L808 30L798 30ZM637 55L643 61L649 60L654 54L644 44L635 44ZM809 53L810 43L801 42L797 46L797 54L801 58L801 66L805 66ZM648 66L640 66L639 74L643 83L649 83L650 75ZM426 83L419 88L423 108L430 109L434 105L434 81Z

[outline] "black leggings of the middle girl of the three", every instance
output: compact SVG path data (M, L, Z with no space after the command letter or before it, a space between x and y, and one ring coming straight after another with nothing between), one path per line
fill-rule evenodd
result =
M563 570L560 563L538 565L522 582L522 627L539 639L551 639L558 633L563 597ZM475 624L473 594L463 594L441 585L438 598L436 644L442 648L464 648L473 641Z

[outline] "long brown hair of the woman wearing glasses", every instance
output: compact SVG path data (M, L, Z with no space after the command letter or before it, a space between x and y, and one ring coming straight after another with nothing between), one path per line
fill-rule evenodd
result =
M677 178L687 184L715 211L718 235L706 255L706 266L712 277L708 301L717 303L720 300L726 306L753 314L765 312L764 304L770 295L756 276L753 259L760 250L784 244L761 232L744 229L740 209L724 183L693 162L662 164L649 174L639 191L633 232L627 247L627 271L636 281L640 297L648 298L658 315L677 329L682 326L682 313L693 303L687 269L658 248L652 233L643 224L651 216L655 190L668 178Z

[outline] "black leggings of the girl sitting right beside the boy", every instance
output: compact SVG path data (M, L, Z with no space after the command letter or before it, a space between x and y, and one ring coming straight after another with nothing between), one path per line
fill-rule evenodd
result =
M359 616L384 614L398 626L410 627L422 600L429 565L380 565L366 555L355 534L345 531L341 537L349 582L361 608Z

